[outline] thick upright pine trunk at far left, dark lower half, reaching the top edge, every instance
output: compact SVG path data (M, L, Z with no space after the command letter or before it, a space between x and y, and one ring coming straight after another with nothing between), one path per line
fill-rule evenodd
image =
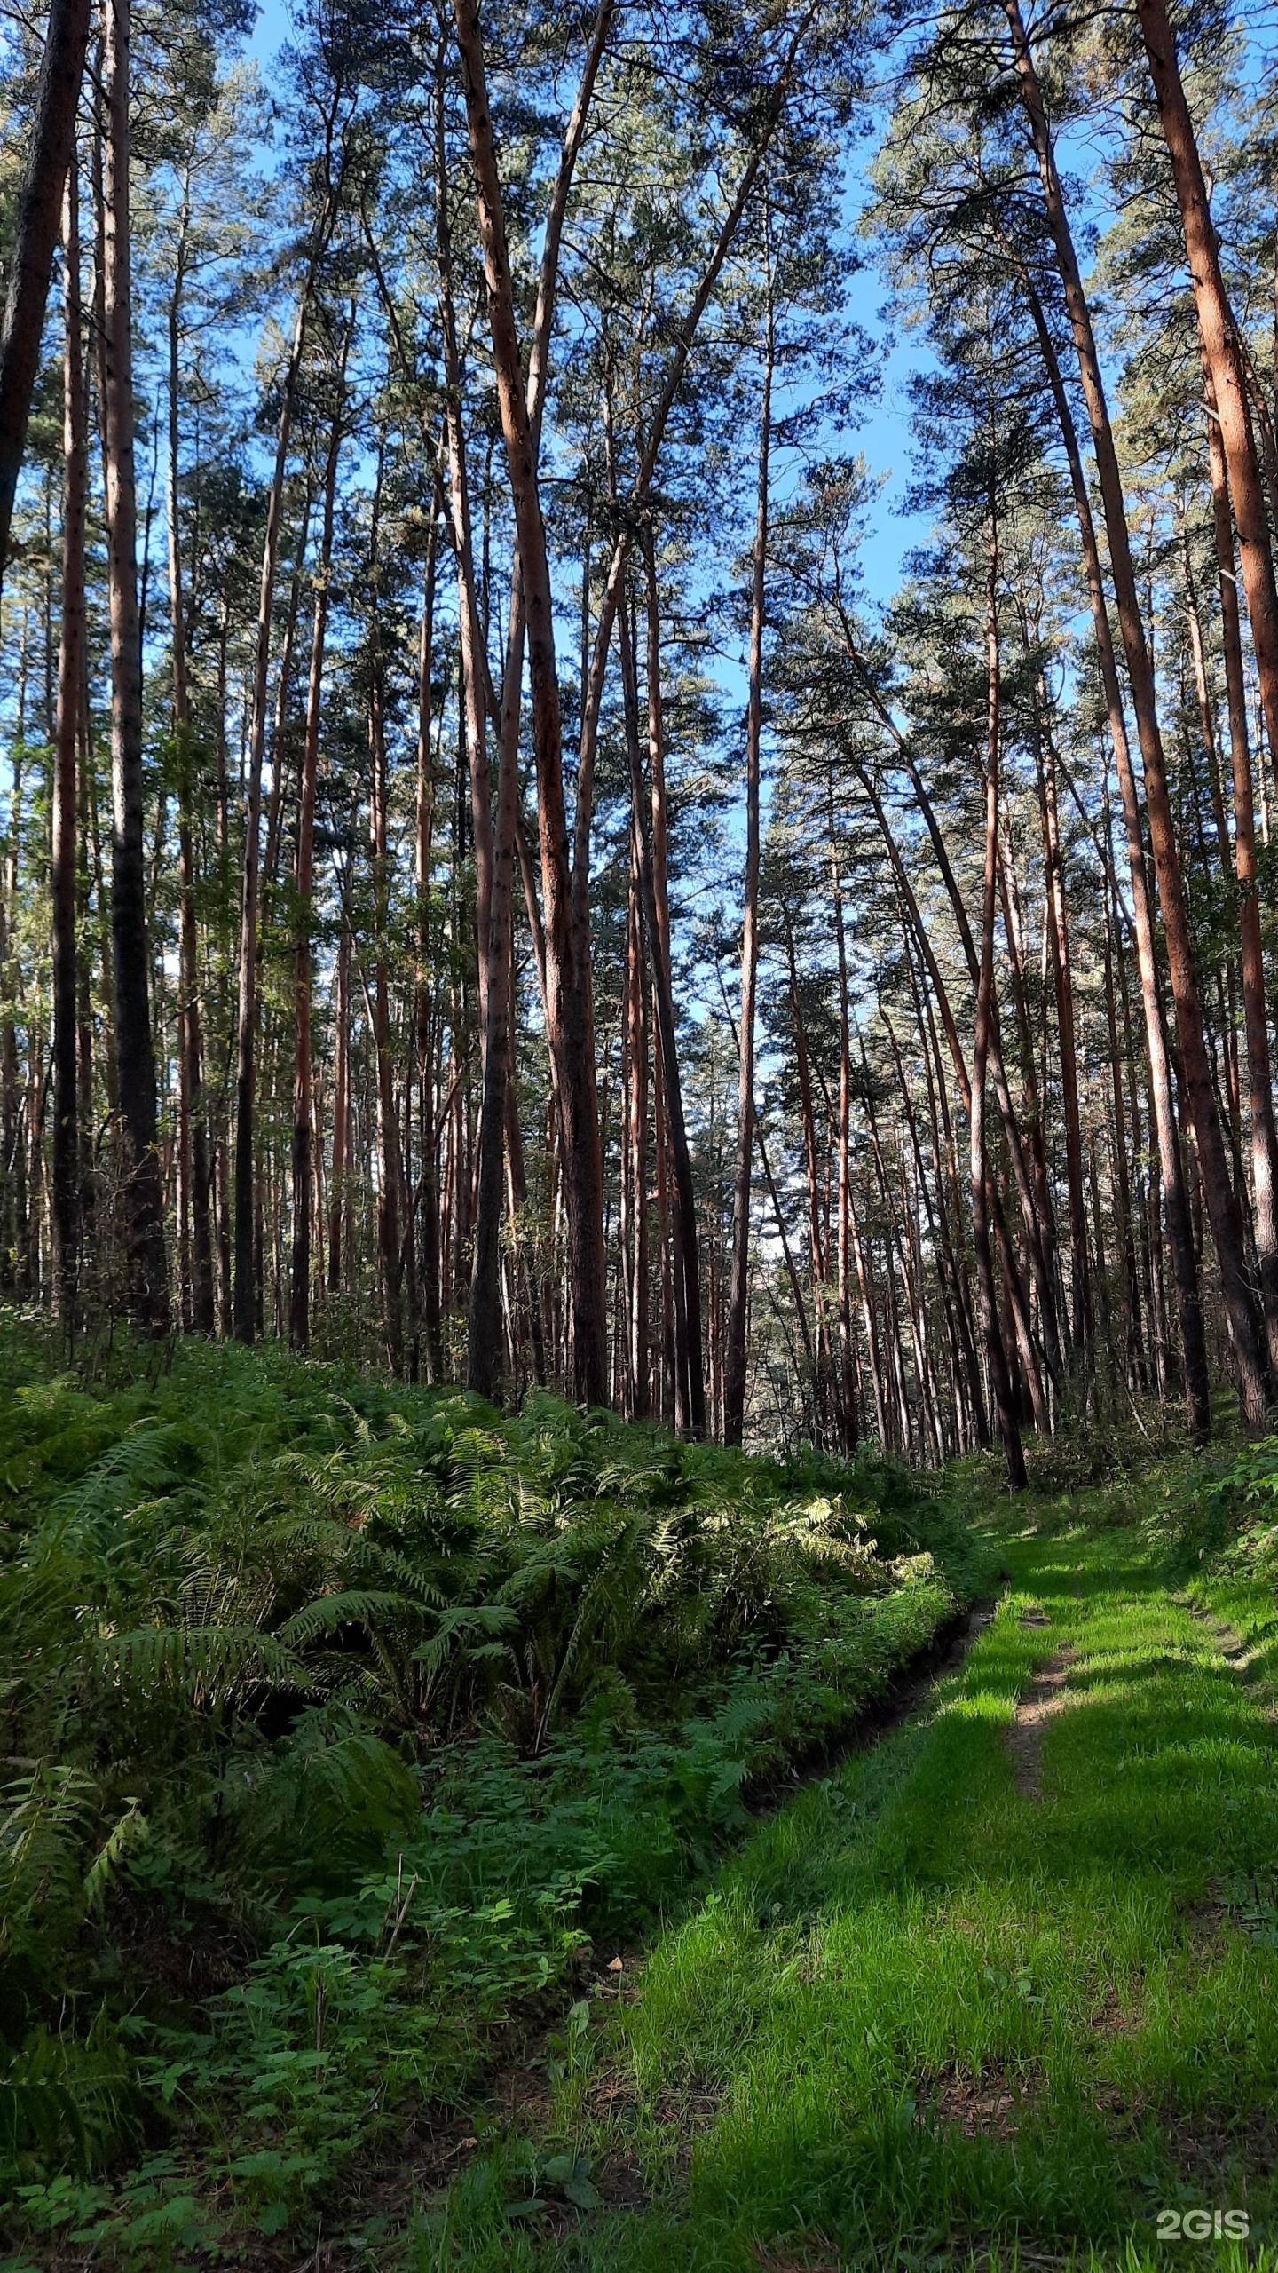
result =
M168 1332L168 1259L157 1152L155 1043L141 800L141 621L130 280L130 0L109 0L102 43L102 455L111 609L111 964L121 1080L123 1214L130 1307Z

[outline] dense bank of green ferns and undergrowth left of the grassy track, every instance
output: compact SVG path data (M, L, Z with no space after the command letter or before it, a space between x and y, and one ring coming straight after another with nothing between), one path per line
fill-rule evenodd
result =
M284 1355L0 1346L0 2189L284 2232L971 1598L903 1471ZM105 1368L105 1377L102 1377Z

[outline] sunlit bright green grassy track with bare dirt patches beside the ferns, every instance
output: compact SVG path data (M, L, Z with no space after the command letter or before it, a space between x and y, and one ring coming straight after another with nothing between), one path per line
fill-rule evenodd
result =
M482 2148L425 2216L423 2273L1278 2268L1273 1600L1187 1600L1121 1532L1005 1568L962 1671L566 2046L532 2168ZM646 2207L578 2221L566 2171Z

